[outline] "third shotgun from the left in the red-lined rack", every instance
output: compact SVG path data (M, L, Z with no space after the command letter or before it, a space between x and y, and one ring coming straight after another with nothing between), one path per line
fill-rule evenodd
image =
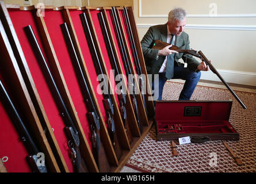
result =
M66 22L64 22L60 26L62 28L63 36L66 41L68 52L71 57L72 65L74 67L75 74L79 82L79 87L86 105L86 116L87 120L89 121L91 129L91 142L93 147L94 158L95 160L97 160L96 163L98 164L98 167L101 171L109 172L110 168L108 159L106 158L106 153L100 137L100 116L98 115L98 112L95 108L95 104L93 102L93 98L91 97L91 93L86 82L86 77L83 73L81 64L79 63L77 52L75 51L74 44L72 43L72 39Z

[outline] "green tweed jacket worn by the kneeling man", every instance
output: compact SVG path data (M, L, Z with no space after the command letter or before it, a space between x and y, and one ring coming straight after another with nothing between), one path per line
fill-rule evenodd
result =
M148 74L158 74L158 71L165 60L165 56L158 57L157 49L152 49L155 40L167 41L167 24L151 26L140 42ZM181 49L190 49L189 35L182 32L181 36L176 36L175 46ZM176 62L178 66L181 65L181 63L178 62L181 58L184 62L188 63L188 68L190 68L190 70L197 71L197 66L200 63L194 59L192 55L175 53L174 62Z

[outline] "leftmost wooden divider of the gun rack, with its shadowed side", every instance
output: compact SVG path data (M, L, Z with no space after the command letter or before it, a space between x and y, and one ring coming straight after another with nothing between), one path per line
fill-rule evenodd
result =
M28 126L33 129L32 136L39 144L40 150L43 150L45 154L45 162L48 166L48 170L50 172L59 172L58 164L44 134L44 129L41 126L35 107L32 104L28 89L26 89L24 79L22 78L20 68L18 68L16 58L14 57L12 47L5 33L5 29L3 28L2 21L0 21L0 30L1 75L5 75L3 79L6 81L9 91L12 91L13 97L16 98L16 104L22 106L22 116L28 121ZM5 72L2 73L3 71Z

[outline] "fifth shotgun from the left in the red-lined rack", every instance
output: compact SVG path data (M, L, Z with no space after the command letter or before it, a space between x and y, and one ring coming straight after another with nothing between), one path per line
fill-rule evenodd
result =
M106 49L108 51L110 64L111 64L112 68L114 68L114 72L119 77L119 81L121 81L121 77L120 77L121 74L119 72L119 68L117 67L116 56L114 55L114 49L112 48L112 44L109 39L109 33L108 33L108 30L106 29L106 24L104 21L102 11L100 13L97 13L97 16L100 21L101 30L102 30L102 34L103 34L104 41L106 44ZM117 81L116 81L116 83L117 83ZM122 86L123 86L123 84L122 84ZM129 142L131 143L132 135L131 135L131 131L129 129L128 122L127 122L127 112L126 112L126 108L125 108L125 104L126 104L125 93L124 93L123 89L120 89L120 90L121 90L120 91L121 93L118 95L119 104L120 104L120 112L121 112L121 116L122 116L122 120L123 120L123 124L124 124L124 128L125 128L125 132L127 133Z

